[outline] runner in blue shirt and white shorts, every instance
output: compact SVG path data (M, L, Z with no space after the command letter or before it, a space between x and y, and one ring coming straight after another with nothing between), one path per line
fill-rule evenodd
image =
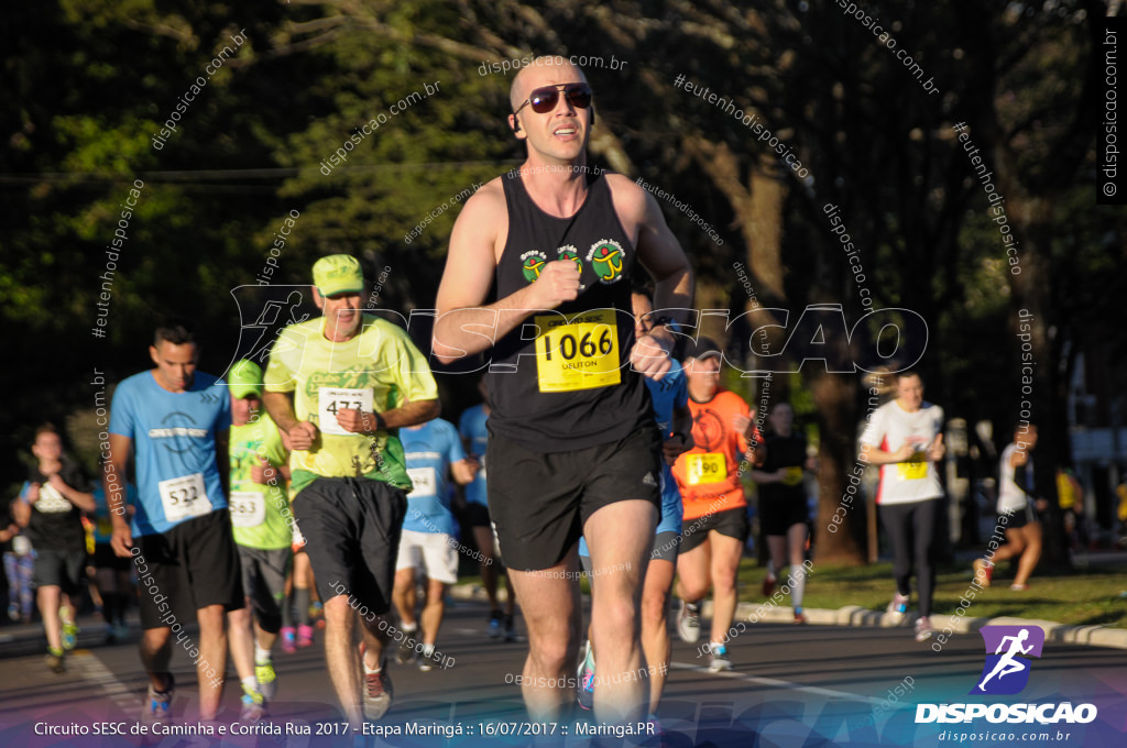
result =
M407 516L399 538L392 591L403 632L398 659L406 664L414 660L416 653L421 653L419 669L425 671L431 669L435 656L446 586L458 582L458 551L464 547L454 538L449 479L452 475L464 486L473 480L478 464L465 457L454 425L441 418L400 429L399 440L414 488L407 495ZM423 641L418 645L415 636L419 629L415 618L416 570L428 580L426 605L419 616Z

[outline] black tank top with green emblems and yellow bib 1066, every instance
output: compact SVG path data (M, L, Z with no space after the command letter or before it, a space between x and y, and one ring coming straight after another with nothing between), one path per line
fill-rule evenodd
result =
M649 393L630 367L636 251L604 175L588 176L584 204L567 219L540 210L518 172L504 179L508 239L492 300L527 286L553 260L570 259L582 273L578 299L530 314L494 346L489 428L535 452L616 442L649 422Z

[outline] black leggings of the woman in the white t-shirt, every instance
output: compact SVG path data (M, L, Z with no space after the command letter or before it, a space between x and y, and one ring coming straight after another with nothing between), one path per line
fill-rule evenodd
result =
M893 545L893 578L897 593L912 593L913 562L919 568L921 617L931 615L931 598L935 591L935 520L942 504L934 498L880 505L880 522Z

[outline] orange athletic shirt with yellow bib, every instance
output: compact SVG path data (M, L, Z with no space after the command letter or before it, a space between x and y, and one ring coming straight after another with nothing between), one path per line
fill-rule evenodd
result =
M699 403L689 399L689 410L693 413L692 449L677 457L673 465L673 477L681 489L684 518L698 517L738 509L747 506L744 487L739 482L739 464L745 455L749 460L747 439L736 431L731 417L752 417L747 403L735 392L718 390L711 402ZM763 448L763 436L756 429L753 435L758 449ZM751 470L751 464L745 471Z

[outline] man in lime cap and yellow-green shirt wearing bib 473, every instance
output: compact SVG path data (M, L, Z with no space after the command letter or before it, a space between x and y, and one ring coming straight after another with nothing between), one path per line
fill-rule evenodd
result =
M438 390L407 332L361 311L355 258L322 257L313 284L322 315L279 333L264 403L293 448L293 510L325 600L325 657L360 729L391 706L385 615L411 488L397 434L438 416ZM357 617L361 654L352 644Z

